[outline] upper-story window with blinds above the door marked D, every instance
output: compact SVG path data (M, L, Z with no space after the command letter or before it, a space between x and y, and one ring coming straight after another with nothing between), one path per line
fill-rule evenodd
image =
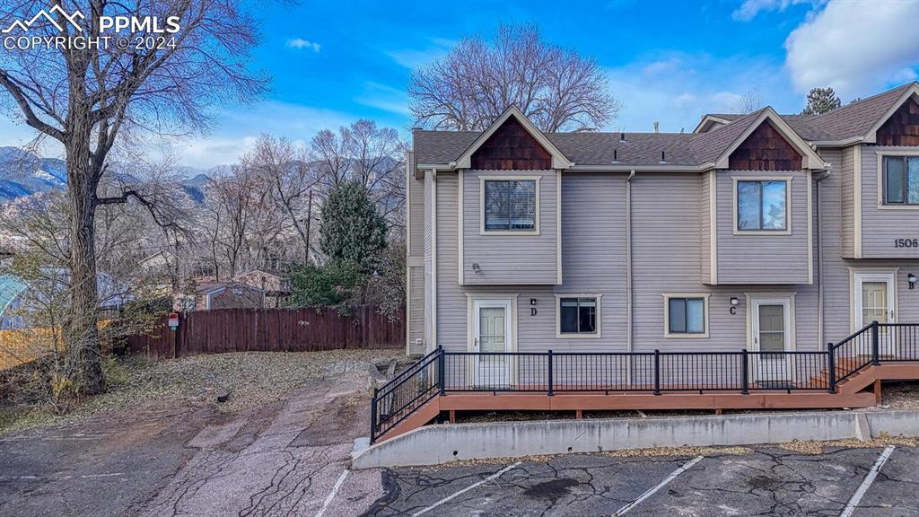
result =
M537 231L536 179L485 179L485 232Z

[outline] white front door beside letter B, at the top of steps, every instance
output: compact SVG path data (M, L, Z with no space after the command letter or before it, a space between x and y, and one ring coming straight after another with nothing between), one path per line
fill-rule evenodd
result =
M856 273L855 274L855 316L856 330L864 328L872 321L878 323L896 323L895 287L896 274L890 273ZM880 327L878 332L880 355L896 353L896 332L888 327Z

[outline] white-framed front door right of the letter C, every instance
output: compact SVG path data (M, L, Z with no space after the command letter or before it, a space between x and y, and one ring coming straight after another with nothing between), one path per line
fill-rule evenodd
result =
M793 370L791 350L791 300L789 298L754 298L751 307L753 338L753 379L768 384L789 382ZM775 353L767 353L775 352Z

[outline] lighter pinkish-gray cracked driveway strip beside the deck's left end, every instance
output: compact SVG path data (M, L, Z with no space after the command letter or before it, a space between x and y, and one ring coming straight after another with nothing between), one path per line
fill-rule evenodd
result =
M363 511L382 495L379 472L346 473L352 442L369 425L360 418L366 386L366 377L304 386L270 419L204 429L188 442L198 452L142 515L344 517Z

